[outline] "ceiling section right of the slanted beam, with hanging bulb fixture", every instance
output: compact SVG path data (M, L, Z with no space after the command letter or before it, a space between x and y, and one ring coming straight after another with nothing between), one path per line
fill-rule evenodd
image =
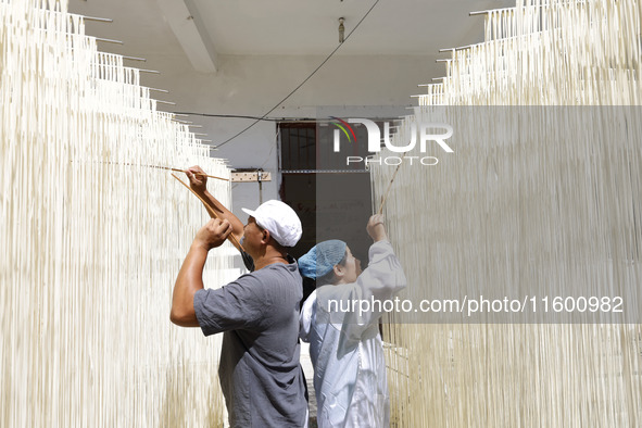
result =
M374 1L193 0L221 53L325 54L338 43L339 17L350 33ZM514 0L513 0L514 2ZM498 1L380 0L338 54L427 54L481 35L471 10Z

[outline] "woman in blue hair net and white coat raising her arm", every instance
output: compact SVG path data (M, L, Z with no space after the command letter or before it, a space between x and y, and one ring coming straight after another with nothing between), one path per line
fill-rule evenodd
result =
M301 309L300 337L310 342L320 428L390 425L379 318L406 279L381 215L369 218L367 231L374 243L363 273L340 240L324 241L299 260L301 274L316 280Z

